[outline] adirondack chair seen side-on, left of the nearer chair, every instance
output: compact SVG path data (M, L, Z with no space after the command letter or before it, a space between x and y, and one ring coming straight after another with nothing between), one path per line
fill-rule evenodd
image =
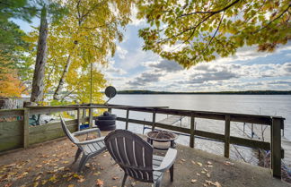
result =
M101 132L98 128L87 129L81 132L71 133L67 129L66 123L64 119L62 118L62 116L60 116L60 118L61 118L62 128L64 132L66 133L67 138L71 140L78 147L75 153L74 163L77 161L81 152L83 153L83 156L80 160L80 164L78 166L78 172L80 172L90 157L94 157L100 154L102 151L106 150L106 147L104 144L104 137L101 137ZM84 140L84 141L79 141L77 138L75 138L75 136L77 135L88 134L89 132L97 132L100 138L93 139L93 140Z

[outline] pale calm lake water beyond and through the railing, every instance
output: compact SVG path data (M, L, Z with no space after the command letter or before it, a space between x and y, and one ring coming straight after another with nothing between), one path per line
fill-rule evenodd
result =
M117 95L110 104L129 106L169 106L174 109L190 109L198 111L228 112L250 115L277 115L285 120L285 137L291 139L291 96L290 95ZM126 116L124 110L113 110L114 114ZM152 121L148 113L130 112L130 118ZM166 115L157 115L156 121L162 120ZM196 128L207 132L224 134L224 122L216 120L196 120ZM189 118L184 118L182 124L189 124ZM118 126L124 128L125 123ZM242 133L242 123L231 124L231 135L245 137ZM143 131L143 126L129 123L129 130ZM148 132L149 130L145 131ZM189 145L189 137L180 136L179 143ZM195 139L195 148L204 149L223 155L224 144L216 141ZM257 158L251 149L231 146L231 157L256 163ZM243 157L243 158L242 158Z

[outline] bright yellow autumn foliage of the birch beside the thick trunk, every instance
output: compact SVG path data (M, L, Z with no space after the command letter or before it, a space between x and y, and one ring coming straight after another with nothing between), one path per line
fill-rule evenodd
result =
M122 29L128 23L131 1L84 0L66 2L66 15L51 23L48 35L48 62L45 74L45 92L54 91L64 77L59 101L90 102L91 71L93 64L93 103L102 103L101 89L106 80L100 69L114 55L116 42L122 40ZM30 33L28 41L37 45L38 32Z

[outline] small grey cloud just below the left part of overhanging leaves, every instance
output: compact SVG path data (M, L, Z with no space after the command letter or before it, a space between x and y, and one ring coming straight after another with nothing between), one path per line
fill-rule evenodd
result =
M153 67L165 72L179 72L183 70L182 66L175 61L162 60L160 62L151 62L145 64L147 67Z

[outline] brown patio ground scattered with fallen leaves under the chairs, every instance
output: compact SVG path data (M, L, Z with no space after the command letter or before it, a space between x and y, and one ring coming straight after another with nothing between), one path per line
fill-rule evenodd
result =
M81 139L84 139L82 137ZM270 170L236 162L198 149L178 145L174 181L164 174L163 186L291 186L275 179ZM120 186L123 171L106 151L93 157L76 174L72 165L76 147L66 138L0 155L0 186ZM128 178L127 186L151 186Z

